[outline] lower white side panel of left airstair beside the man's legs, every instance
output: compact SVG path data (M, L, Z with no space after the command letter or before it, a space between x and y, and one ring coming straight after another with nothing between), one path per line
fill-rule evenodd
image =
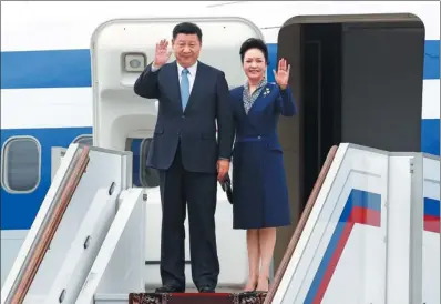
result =
M145 280L143 189L129 189L122 197L116 216L90 270L76 304L93 304L95 293L126 294L142 291Z

